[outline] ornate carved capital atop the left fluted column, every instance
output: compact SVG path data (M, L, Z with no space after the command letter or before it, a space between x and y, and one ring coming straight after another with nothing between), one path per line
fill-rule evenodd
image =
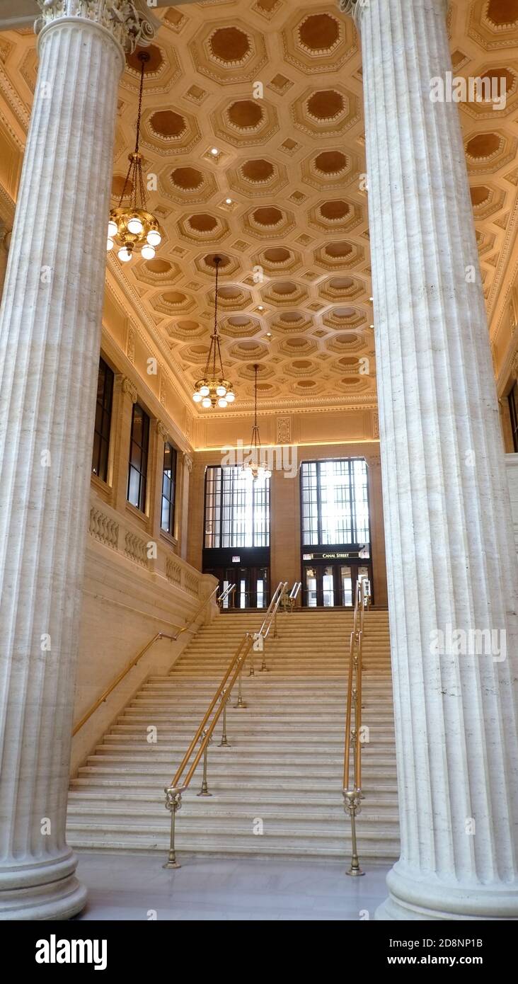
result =
M81 19L105 28L124 51L149 44L159 25L145 0L37 0L37 5L36 34L64 18Z

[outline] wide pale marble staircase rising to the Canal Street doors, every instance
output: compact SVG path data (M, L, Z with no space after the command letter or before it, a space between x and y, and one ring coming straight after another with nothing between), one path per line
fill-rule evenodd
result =
M171 672L149 677L73 780L68 839L77 847L166 852L163 787L181 761L244 632L258 612L224 613L201 629ZM230 747L208 752L210 798L197 796L201 766L177 815L182 852L346 857L342 805L345 689L352 612L279 613L266 644L268 671L244 674L248 707L228 709ZM387 612L372 610L364 646L363 858L398 854L394 724ZM148 729L156 728L149 743Z

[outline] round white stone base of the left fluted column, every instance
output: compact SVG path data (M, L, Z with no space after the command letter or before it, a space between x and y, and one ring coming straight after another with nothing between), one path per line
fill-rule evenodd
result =
M86 904L86 888L76 878L72 852L48 863L0 866L0 921L71 919Z

